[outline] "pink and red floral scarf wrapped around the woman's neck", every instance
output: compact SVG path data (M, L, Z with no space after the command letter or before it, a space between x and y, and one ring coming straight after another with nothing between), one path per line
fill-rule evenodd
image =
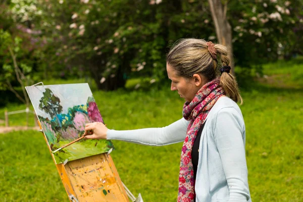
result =
M219 83L219 79L208 82L199 89L190 103L184 104L183 117L190 122L181 152L178 202L194 201L195 181L193 179L191 149L200 126L204 123L208 113L217 99L225 94Z

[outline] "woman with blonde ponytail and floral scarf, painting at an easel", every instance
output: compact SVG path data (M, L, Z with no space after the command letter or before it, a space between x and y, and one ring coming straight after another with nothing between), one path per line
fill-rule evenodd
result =
M185 99L183 118L163 128L110 130L90 123L86 138L146 145L183 141L178 201L251 201L245 160L242 103L227 48L203 39L182 39L167 55L167 73Z

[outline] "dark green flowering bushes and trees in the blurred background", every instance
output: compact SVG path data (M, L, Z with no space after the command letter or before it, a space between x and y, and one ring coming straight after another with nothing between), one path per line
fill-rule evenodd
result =
M262 74L263 63L302 54L301 7L299 0L228 2L235 64ZM207 1L14 0L4 8L3 29L22 39L17 61L35 81L91 77L114 90L144 77L160 86L168 46L188 37L216 41Z

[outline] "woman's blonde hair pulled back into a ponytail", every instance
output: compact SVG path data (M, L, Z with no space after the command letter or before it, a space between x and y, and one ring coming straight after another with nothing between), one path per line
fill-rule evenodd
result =
M192 75L200 73L208 81L212 81L220 77L220 68L227 66L230 62L226 46L215 44L214 48L215 54L209 51L207 41L204 39L180 39L167 54L166 62L179 76L191 78ZM223 72L220 77L220 86L234 102L243 103L237 81L233 75Z

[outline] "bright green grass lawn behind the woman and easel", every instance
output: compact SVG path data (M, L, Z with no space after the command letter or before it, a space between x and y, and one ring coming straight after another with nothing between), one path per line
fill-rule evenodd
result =
M264 69L268 76L298 74L283 86L253 82L242 92L252 201L302 201L303 88L302 79L297 79L302 68L293 62L268 65ZM182 117L183 100L169 86L148 92L94 91L93 95L111 129L162 127ZM8 106L19 108L24 106ZM176 201L182 143L162 147L113 143L116 168L134 195L140 192L144 201ZM69 201L40 132L0 134L0 198Z

